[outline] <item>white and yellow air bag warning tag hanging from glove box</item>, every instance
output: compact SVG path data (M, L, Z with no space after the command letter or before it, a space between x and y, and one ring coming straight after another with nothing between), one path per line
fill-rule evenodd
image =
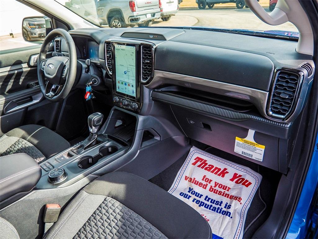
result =
M235 137L234 152L248 158L263 161L265 145L251 141L251 139L253 139L251 137L249 137L249 139L250 140Z

